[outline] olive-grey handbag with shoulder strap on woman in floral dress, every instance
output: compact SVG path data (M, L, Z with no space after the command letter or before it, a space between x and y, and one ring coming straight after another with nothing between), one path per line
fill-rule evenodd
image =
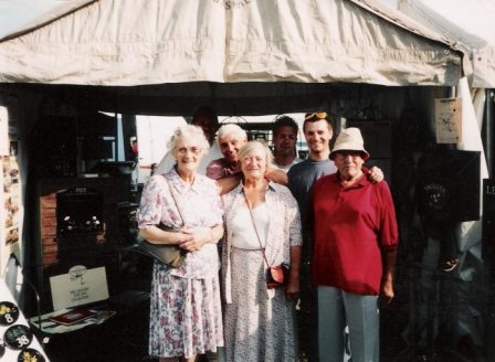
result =
M164 175L165 180L168 183L168 179ZM176 203L177 210L179 211L180 219L182 220L182 224L185 224L183 215L180 211L179 203L177 202L176 194L173 192L172 187L169 183L170 193L172 195L173 202ZM173 227L169 227L162 223L157 225L157 227L162 231L173 232L176 231ZM150 243L146 239L143 239L136 247L136 252L145 254L149 257L152 257L159 263L162 263L170 268L178 268L182 265L183 259L186 258L187 252L180 248L178 245L173 244L155 244Z

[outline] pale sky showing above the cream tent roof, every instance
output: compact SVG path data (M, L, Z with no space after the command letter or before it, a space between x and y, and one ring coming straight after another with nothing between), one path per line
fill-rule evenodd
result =
M0 0L0 38L22 28L31 20L71 0ZM396 8L398 0L381 0Z

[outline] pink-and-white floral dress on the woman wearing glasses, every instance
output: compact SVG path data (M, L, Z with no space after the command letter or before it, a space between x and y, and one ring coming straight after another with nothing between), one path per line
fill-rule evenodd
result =
M138 213L139 228L159 222L181 227L170 188L178 195L189 228L222 223L223 211L215 182L197 174L189 185L172 169L166 175L151 177L146 183ZM151 356L189 358L223 345L219 267L217 244L206 244L199 252L187 254L177 269L155 262L149 323Z

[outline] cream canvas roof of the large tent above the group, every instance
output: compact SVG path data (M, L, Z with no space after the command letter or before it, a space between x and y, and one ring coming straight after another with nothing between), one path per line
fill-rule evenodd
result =
M74 0L0 40L0 83L455 85L462 54L375 0Z

